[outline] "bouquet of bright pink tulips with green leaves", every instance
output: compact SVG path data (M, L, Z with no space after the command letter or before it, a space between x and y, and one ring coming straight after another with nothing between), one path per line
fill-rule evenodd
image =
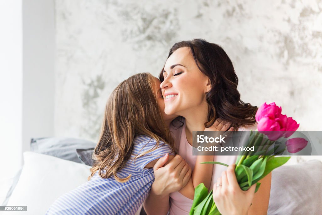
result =
M260 106L256 112L256 122L258 122L257 130L251 131L250 137L247 142L247 147L254 146L256 151L244 152L238 155L236 160L235 174L240 188L243 191L248 190L253 184L256 183L255 192L260 187L260 181L267 174L275 168L285 164L290 157L275 157L281 154L285 147L277 151L278 146L274 146L276 140L281 137L288 138L297 129L299 124L292 119L281 114L281 107L275 103ZM266 137L267 138L264 138ZM292 138L285 142L286 148L290 153L295 153L302 150L308 141L303 138ZM273 146L272 149L270 149ZM227 164L221 162L204 162L221 164L228 167ZM189 215L219 215L214 201L213 191L208 193L208 189L203 183L195 188L194 201Z

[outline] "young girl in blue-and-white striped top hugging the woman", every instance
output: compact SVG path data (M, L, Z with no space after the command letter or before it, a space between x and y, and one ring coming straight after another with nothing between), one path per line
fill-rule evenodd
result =
M46 214L136 213L154 181L153 165L166 153L173 159L176 151L165 123L176 116L164 114L160 83L139 73L116 87L106 104L89 181L59 197ZM191 169L183 174L190 177ZM211 180L196 175L182 189L189 198L193 184Z

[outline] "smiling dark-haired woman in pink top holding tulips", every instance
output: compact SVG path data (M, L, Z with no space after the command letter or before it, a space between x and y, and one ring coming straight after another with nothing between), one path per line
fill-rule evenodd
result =
M182 126L176 128L178 121L175 121L171 131L179 155L192 169L197 157L192 156L192 131L211 127L217 118L231 122L231 126L238 131L256 129L257 107L241 101L232 62L219 45L202 39L174 44L159 78L165 99L165 113L182 116L179 117ZM236 156L214 156L214 161L232 164ZM165 162L166 159L160 159L154 167L155 181L144 208L148 214L167 214L169 209L170 214L187 214L193 201L177 192L187 183L177 177L178 172L185 169L173 168L185 161L178 157L162 167ZM172 168L168 168L168 165ZM213 167L211 184L217 183L223 191L220 194L216 192L215 198L220 212L224 215L232 214L232 211L237 214L266 214L271 174L260 181L261 186L255 198L249 198L249 192L242 191L234 183L222 184L227 178L235 178L232 171L226 170L220 165Z

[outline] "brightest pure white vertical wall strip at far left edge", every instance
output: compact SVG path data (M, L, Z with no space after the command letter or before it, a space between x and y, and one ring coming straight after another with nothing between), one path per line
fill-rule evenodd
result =
M0 1L0 204L21 165L22 1Z

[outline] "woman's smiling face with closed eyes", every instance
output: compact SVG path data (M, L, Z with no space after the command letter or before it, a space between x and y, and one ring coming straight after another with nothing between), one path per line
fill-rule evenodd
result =
M197 67L190 48L179 48L170 55L163 76L160 87L166 114L185 117L206 103L205 93L211 89L210 80Z

